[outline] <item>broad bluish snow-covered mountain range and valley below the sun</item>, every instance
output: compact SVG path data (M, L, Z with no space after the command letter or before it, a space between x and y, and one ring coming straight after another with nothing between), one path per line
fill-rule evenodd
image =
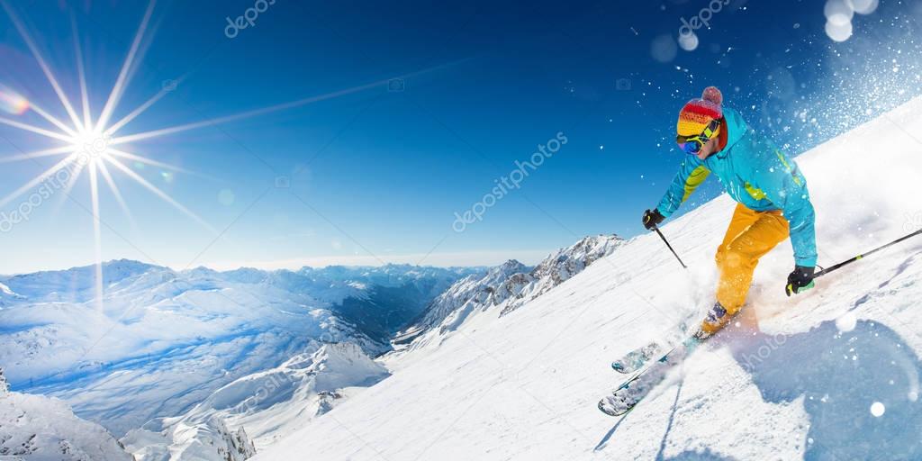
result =
M392 320L406 323L429 301L420 297L467 272L177 272L113 261L103 266L102 312L93 301L92 267L2 278L12 294L0 310L0 363L14 388L60 397L82 418L122 435L152 418L183 414L222 385L301 353L313 339L350 341L380 354L389 348L381 325L356 325L344 305L397 312ZM407 292L392 299L416 302L418 310L382 301L378 290Z

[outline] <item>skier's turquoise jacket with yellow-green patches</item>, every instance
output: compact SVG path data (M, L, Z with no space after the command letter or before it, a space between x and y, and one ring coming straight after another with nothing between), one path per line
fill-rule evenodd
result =
M705 160L686 155L679 173L656 207L669 217L715 173L727 194L754 211L780 209L790 224L791 244L797 266L816 266L815 215L807 180L798 165L764 136L756 134L739 112L724 108L721 129L727 145Z

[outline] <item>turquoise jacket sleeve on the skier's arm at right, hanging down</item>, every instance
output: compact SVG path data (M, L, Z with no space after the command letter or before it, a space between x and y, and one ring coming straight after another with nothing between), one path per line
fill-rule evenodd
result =
M781 208L790 224L794 261L798 266L816 266L816 215L810 203L807 180L798 165L780 150L774 149L770 168L754 171L755 183L772 203Z

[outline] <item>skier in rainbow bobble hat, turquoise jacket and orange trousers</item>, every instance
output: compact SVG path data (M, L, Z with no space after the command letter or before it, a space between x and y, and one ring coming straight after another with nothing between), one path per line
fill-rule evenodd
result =
M795 267L787 276L787 296L813 287L817 259L813 205L797 164L722 102L720 90L708 87L701 99L682 107L676 142L688 155L659 205L644 212L644 227L655 229L712 172L738 202L717 248L716 301L695 334L699 339L714 335L739 312L759 258L788 235Z

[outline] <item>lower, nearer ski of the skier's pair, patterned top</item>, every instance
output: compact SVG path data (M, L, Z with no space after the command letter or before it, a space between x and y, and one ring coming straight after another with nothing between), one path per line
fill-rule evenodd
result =
M638 403L666 378L672 367L681 363L703 339L691 336L681 344L669 349L657 361L647 362L639 370L632 372L623 384L598 401L598 409L609 416L628 414Z

